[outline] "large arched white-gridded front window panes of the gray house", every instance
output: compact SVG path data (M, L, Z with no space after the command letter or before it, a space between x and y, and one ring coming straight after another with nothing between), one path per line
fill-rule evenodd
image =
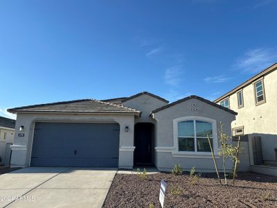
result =
M178 122L178 147L179 151L211 152L207 135L213 145L212 123L199 120Z

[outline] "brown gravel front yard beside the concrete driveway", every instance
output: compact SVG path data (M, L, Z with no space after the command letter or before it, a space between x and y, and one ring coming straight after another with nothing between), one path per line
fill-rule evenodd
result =
M104 207L149 207L150 203L160 207L162 179L167 183L164 207L277 207L277 177L256 173L239 173L235 187L220 186L211 173L203 173L196 185L190 185L188 174L159 173L148 175L146 180L139 175L117 174ZM182 193L173 196L172 187L179 187Z

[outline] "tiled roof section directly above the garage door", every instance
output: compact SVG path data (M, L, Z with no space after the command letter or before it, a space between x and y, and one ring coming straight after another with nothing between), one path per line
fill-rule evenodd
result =
M139 110L97 101L94 99L83 99L75 101L63 101L57 103L46 103L40 105L28 105L8 109L8 112L69 112L69 113L109 113L109 114L140 114Z

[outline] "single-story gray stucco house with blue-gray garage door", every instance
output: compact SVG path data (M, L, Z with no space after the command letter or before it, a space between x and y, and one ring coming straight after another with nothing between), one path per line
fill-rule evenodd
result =
M214 171L206 135L217 162L217 129L231 135L236 112L199 96L174 103L141 92L105 101L84 99L15 107L17 114L11 166L154 165L170 171ZM228 165L231 168L231 164Z

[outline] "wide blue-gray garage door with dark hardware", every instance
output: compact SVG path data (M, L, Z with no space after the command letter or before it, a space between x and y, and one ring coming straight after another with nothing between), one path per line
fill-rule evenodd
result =
M30 166L117 167L116 123L35 123Z

